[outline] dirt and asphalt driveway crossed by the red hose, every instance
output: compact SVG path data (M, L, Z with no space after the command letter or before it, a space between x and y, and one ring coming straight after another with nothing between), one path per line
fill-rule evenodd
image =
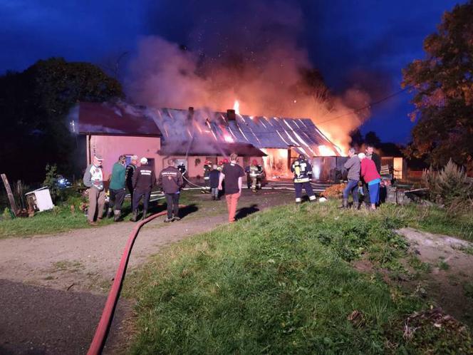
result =
M165 245L227 222L224 200L185 210L180 222L149 222L132 249L128 270ZM246 192L244 217L292 201L292 193ZM237 214L238 216L238 214ZM105 303L105 294L128 240L132 222L58 235L0 240L0 354L84 354ZM105 354L120 354L128 340L132 301L121 299Z

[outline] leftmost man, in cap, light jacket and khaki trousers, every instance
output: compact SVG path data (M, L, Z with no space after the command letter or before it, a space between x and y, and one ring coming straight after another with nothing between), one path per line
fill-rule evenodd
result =
M103 172L102 172L102 155L96 154L93 157L93 163L85 169L83 182L88 189L88 216L89 225L97 225L94 221L95 213L97 213L97 221L102 220L103 207L105 205L105 190L103 190Z

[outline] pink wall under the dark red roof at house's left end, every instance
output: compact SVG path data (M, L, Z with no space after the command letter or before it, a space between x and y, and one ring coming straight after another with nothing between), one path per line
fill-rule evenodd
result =
M113 164L118 161L122 154L136 154L138 159L154 158L155 173L162 170L162 158L157 154L161 148L161 139L158 137L130 137L123 135L88 135L87 136L87 155L100 154L103 156L103 173L105 180L112 173ZM87 156L87 163L90 163L90 157Z

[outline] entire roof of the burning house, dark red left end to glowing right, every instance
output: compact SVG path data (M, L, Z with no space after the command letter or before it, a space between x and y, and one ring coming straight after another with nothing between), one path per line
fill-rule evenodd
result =
M159 135L162 137L161 150L166 154L177 154L185 147L184 153L189 148L205 155L208 150L214 149L215 153L234 143L243 144L238 147L251 145L257 151L293 148L308 156L326 155L326 150L341 155L338 147L318 130L310 118L249 116L208 109L157 109L123 102L80 103L79 111L80 133ZM125 120L129 121L123 123ZM90 130L92 126L96 127L96 132ZM190 147L189 141L192 141ZM322 149L324 153L321 153Z

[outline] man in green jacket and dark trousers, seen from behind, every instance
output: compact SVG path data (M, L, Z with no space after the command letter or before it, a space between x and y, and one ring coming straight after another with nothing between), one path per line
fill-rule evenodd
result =
M118 162L113 164L112 177L110 178L110 202L108 204L107 217L112 217L118 222L122 220L122 205L125 199L125 155L120 155Z

